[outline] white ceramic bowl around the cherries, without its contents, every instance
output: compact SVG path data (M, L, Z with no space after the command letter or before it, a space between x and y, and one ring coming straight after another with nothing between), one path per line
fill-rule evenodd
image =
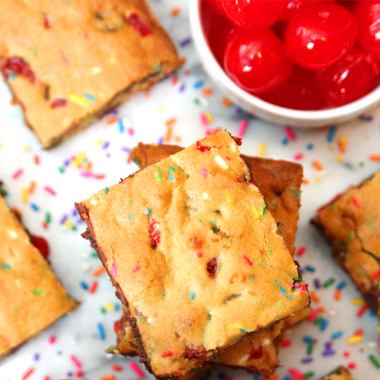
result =
M342 123L379 105L380 86L355 102L321 111L298 111L279 107L245 92L219 66L207 44L200 17L201 2L202 0L189 1L190 23L196 49L212 80L229 99L248 113L278 124L289 124L295 127L318 127Z

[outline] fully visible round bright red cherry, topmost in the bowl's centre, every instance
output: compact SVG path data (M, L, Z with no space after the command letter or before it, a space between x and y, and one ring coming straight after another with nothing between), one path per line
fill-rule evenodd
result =
M338 61L355 44L354 16L341 5L321 2L297 13L289 22L285 45L294 62L319 70Z

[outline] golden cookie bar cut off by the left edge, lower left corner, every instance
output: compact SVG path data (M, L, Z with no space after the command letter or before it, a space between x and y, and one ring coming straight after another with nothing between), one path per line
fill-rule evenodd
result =
M0 196L0 358L77 303L67 294Z

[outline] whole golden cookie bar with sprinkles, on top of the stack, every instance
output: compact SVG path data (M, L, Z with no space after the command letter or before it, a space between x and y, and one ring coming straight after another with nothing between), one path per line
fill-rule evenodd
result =
M77 204L156 377L308 306L235 140L218 132Z

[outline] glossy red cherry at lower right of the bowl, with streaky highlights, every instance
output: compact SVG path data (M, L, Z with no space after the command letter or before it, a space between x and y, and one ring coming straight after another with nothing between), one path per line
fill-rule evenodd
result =
M316 73L319 92L330 106L342 106L361 98L376 87L378 78L377 62L356 47Z

